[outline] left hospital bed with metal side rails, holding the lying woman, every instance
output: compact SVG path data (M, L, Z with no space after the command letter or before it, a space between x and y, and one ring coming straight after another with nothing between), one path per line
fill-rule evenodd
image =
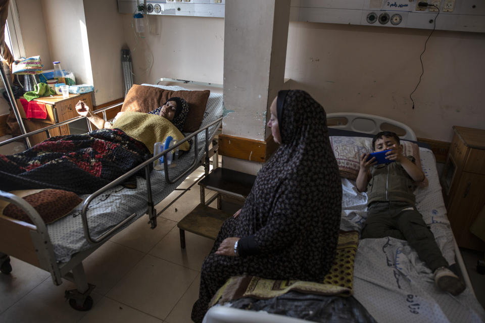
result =
M160 81L195 83L172 79L160 79ZM221 87L209 83L197 82L196 84L209 85L212 89ZM142 85L173 91L186 90L180 86ZM9 258L9 255L11 255L51 273L56 285L62 283L62 278L73 281L77 289L66 291L66 298L69 299L73 308L88 310L92 306L92 298L89 294L94 286L86 281L82 261L109 238L128 227L143 214L148 214L149 224L152 229L155 228L157 217L166 207L157 213L154 205L168 196L201 164L204 165L205 174L208 174L209 157L212 155L209 148L211 148L212 153L217 149L216 146L212 145L212 141L222 123L223 113L222 93L216 92L211 91L209 95L199 130L193 133L184 133L185 138L175 146L144 161L98 191L89 195L81 195L83 202L67 216L56 222L45 225L39 213L24 199L0 191L0 199L21 207L33 223L32 225L0 215L0 265L2 272L8 274L12 270ZM121 104L105 107L95 111L95 113L102 112L106 121L106 111ZM69 124L83 118L73 118L50 128ZM90 129L89 121L87 121L87 124ZM45 130L44 128L29 134ZM0 145L25 138L29 134L6 140ZM156 159L162 155L166 156L167 152L189 139L193 140L190 150L180 156L175 166L168 167L165 157L164 170L150 172L150 166ZM214 159L217 160L217 158ZM140 171L144 172L146 178L136 177L136 189L126 189L120 185L126 179L139 174Z

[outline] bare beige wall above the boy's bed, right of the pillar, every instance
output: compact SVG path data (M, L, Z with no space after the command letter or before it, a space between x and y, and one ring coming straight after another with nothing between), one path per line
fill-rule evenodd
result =
M453 125L484 129L485 34L290 22L285 77L327 113L401 121L418 137L450 142Z

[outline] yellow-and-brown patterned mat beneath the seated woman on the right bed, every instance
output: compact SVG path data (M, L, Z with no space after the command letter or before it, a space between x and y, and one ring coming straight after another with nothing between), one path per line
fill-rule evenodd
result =
M231 277L214 295L210 306L243 297L269 299L289 291L318 295L350 296L353 294L354 258L358 241L359 234L357 231L341 232L338 235L334 262L321 283L298 280L271 280L255 276Z

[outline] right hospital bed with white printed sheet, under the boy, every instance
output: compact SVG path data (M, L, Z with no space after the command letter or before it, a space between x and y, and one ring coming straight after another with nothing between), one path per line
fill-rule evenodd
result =
M341 175L349 174L352 168L354 171L358 169L357 157L363 151L370 150L372 135L379 131L396 132L405 147L412 146L406 141L416 141L410 127L378 116L358 113L327 114L327 123ZM483 322L485 311L475 298L447 219L434 155L428 146L420 143L418 146L420 164L429 186L416 189L416 206L433 232L445 258L453 264L452 269L463 277L467 288L458 296L440 291L434 286L431 271L408 243L387 237L359 241L351 297L363 305L377 322ZM358 192L355 180L349 178L342 177L342 189L341 230L357 230L360 233L366 219L367 196ZM231 300L211 307L204 320L207 323L302 322L302 318L310 321L346 321L342 318L338 320L338 315L342 314L338 310L332 312L333 316L328 315L331 306L323 309L312 307L315 302L307 305L310 304L307 299L296 296L297 294L292 294L280 301L256 298ZM328 296L318 297L323 299ZM283 301L290 305L287 310L278 305ZM246 310L249 303L253 310ZM300 312L297 309L301 309Z

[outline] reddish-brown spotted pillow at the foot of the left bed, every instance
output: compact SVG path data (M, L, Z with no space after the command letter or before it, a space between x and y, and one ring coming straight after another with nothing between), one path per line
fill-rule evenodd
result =
M61 219L82 199L73 192L55 189L13 191L12 194L22 197L39 213L45 224ZM9 203L3 209L4 216L33 224L27 214L17 205Z

